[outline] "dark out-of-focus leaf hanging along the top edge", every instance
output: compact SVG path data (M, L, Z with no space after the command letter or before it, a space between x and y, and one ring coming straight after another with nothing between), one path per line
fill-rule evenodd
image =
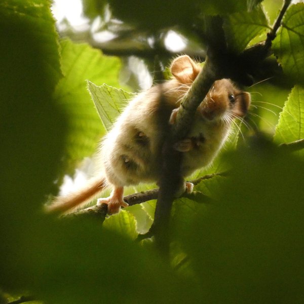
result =
M193 21L204 15L226 15L239 11L251 11L261 0L191 0L191 1L140 1L109 0L113 14L138 28L157 32L178 25L189 30Z

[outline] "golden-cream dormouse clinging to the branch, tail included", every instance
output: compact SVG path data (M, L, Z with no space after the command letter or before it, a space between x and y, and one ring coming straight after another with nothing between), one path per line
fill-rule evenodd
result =
M201 70L190 57L175 58L170 67L172 79L138 94L118 117L100 146L101 177L97 177L68 196L57 197L48 211L66 212L96 196L110 186L106 203L109 213L116 213L123 200L124 186L155 182L161 174L161 150L166 130L174 124L184 94ZM197 109L191 132L176 142L174 148L183 152L182 176L211 163L231 130L232 121L242 118L250 105L250 94L238 90L228 79L215 81ZM191 184L187 184L191 192Z

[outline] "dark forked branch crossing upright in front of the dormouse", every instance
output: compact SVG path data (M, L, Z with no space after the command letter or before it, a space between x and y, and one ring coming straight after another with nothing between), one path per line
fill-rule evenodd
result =
M221 78L231 78L243 85L253 83L252 75L254 71L271 54L270 42L274 39L274 34L278 30L289 4L290 0L285 0L274 28L268 35L268 40L254 49L244 51L241 55L234 54L227 49L222 18L211 17L206 19L206 36L209 37L207 59L204 68L182 99L177 112L176 123L165 140L158 202L154 222L148 232L148 235L155 235L157 245L166 257L169 256L170 211L175 194L178 193L183 184L183 176L180 173L182 153L174 150L173 144L179 139L185 138L191 130L196 109L204 100L214 81Z

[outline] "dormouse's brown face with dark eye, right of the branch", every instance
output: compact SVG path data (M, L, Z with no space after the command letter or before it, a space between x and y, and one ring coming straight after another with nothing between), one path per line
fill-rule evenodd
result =
M229 79L214 82L198 111L209 121L229 122L246 115L250 106L250 94L237 89Z

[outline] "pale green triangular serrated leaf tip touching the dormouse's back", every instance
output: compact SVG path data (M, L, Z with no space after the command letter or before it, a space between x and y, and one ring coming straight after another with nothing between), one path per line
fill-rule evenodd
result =
M103 126L109 131L117 116L122 112L122 108L126 105L126 101L130 98L130 93L106 84L98 87L90 81L87 83Z

